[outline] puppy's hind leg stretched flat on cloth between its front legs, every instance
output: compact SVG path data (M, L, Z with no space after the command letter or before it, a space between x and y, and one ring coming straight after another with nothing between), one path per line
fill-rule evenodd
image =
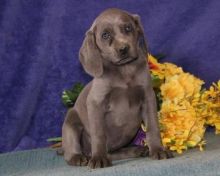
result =
M111 160L122 160L128 158L138 158L149 156L149 148L142 146L131 146L121 148L114 152L109 152L108 157Z

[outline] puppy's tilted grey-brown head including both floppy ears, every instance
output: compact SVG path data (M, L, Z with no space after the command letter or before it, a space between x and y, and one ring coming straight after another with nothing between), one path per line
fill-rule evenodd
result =
M86 33L80 49L80 61L87 73L99 77L103 73L103 60L123 66L146 53L139 16L119 9L108 9L96 18Z

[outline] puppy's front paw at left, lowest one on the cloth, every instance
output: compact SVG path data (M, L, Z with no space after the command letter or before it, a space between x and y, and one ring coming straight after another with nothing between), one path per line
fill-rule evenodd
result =
M112 162L107 157L103 157L103 156L92 157L88 163L88 166L92 169L108 167L111 165Z

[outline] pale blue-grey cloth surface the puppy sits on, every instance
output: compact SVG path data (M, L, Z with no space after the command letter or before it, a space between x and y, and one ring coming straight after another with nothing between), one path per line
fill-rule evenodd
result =
M120 160L112 167L93 170L68 166L51 149L6 153L0 155L0 176L219 176L220 136L207 133L206 139L204 152L193 149L169 160Z

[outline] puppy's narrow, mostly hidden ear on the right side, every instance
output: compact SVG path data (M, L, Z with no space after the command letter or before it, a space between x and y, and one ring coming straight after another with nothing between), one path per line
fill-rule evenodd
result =
M147 43L146 43L146 39L144 36L144 28L141 24L140 16L133 14L132 17L134 19L134 22L136 24L137 31L138 31L138 44L139 44L140 48L143 50L144 54L147 54L148 53Z

